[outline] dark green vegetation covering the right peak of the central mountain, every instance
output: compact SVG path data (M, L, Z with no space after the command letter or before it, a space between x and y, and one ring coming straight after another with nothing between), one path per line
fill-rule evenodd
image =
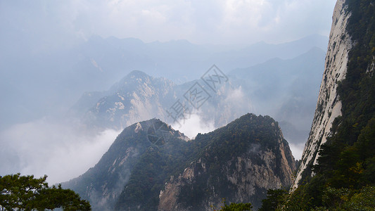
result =
M143 132L139 132L143 133ZM182 186L177 196L177 203L188 210L202 210L205 203L212 196L212 187L215 187L215 197L227 198L229 203L239 202L233 194L236 187L227 181L227 169L236 171L236 159L256 146L254 153L250 153L253 165L267 166L278 177L284 175L281 167L281 151L279 138L281 132L277 122L271 117L243 115L227 126L216 129L208 134L198 134L196 139L182 141L171 137L163 146L151 146L136 161L129 182L123 188L115 204L115 210L158 210L160 191L171 176L178 178L186 167L191 167L196 162L204 162L205 170L196 169L193 182ZM288 146L285 140L281 140ZM276 158L272 163L265 163L258 158L255 152L269 151ZM294 165L291 154L286 154L289 165ZM199 160L199 161L198 161ZM201 164L196 165L202 168ZM205 173L207 172L207 174ZM265 190L258 188L252 204L260 206L260 200L265 196ZM253 197L253 196L252 196ZM239 207L241 204L229 204L225 210Z

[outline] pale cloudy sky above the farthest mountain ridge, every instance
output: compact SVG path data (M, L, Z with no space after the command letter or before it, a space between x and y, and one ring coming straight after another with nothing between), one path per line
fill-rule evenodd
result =
M195 44L279 43L310 34L328 35L335 2L1 0L0 27L3 32L24 32L30 39L43 38L43 44L50 46L87 39L92 34L136 37L146 42L187 39Z

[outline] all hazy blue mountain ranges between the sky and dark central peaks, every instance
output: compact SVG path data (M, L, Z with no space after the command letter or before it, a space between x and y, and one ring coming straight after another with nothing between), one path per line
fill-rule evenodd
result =
M5 55L0 56L0 139L6 143L2 157L10 162L4 162L3 173L21 171L21 167L34 162L23 156L25 150L18 143L49 142L48 137L32 136L46 134L46 126L41 122L56 123L47 131L51 134L56 134L55 128L68 128L58 129L62 134L56 134L54 139L62 146L66 140L78 143L87 134L91 139L103 129L124 129L153 117L179 129L167 111L178 100L191 109L185 94L196 83L208 91L210 98L194 111L191 122L196 128L189 133L190 138L202 129L192 121L197 115L202 124L209 125L205 129L208 132L250 112L275 117L285 138L293 144L291 147L294 149L298 143L302 150L312 119L311 105L317 95L308 84L318 87L320 83L316 76L322 74L319 65L324 65L324 53L319 46L325 49L326 39L313 35L286 44L210 46L187 41L145 44L136 39L91 37L53 51L32 51L27 43L24 49L23 45L4 49L0 52ZM150 67L160 67L162 60L167 64L169 56L170 66L162 68L166 73L160 77L162 70L158 73ZM229 78L215 90L200 79L212 64ZM142 71L132 72L134 69ZM295 77L297 72L301 75ZM176 79L185 73L193 79ZM310 78L303 77L310 73ZM274 78L280 81L276 83ZM280 94L280 90L285 90L285 94ZM303 91L306 94L301 94ZM71 118L67 118L67 113ZM77 139L65 139L70 130Z

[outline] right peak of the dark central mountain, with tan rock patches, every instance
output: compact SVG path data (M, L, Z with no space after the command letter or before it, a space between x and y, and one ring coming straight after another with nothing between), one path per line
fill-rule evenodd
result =
M246 116L241 117L248 118L241 122L245 134L229 124L183 172L170 177L160 191L158 210L212 210L222 205L222 198L260 207L268 188L292 184L295 161L277 122ZM198 141L204 136L197 136Z

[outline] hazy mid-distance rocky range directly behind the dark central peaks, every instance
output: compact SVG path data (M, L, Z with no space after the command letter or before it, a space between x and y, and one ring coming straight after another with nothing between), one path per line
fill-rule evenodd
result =
M158 117L173 124L167 110L184 100L186 91L201 83L210 98L198 113L204 122L222 127L244 113L273 115L285 125L288 139L307 139L314 111L324 51L312 48L292 59L274 58L250 68L236 69L212 91L202 79L175 84L165 77L152 77L139 70L130 72L108 91L87 92L70 110L89 128L123 129L135 122ZM186 102L189 104L189 102Z

